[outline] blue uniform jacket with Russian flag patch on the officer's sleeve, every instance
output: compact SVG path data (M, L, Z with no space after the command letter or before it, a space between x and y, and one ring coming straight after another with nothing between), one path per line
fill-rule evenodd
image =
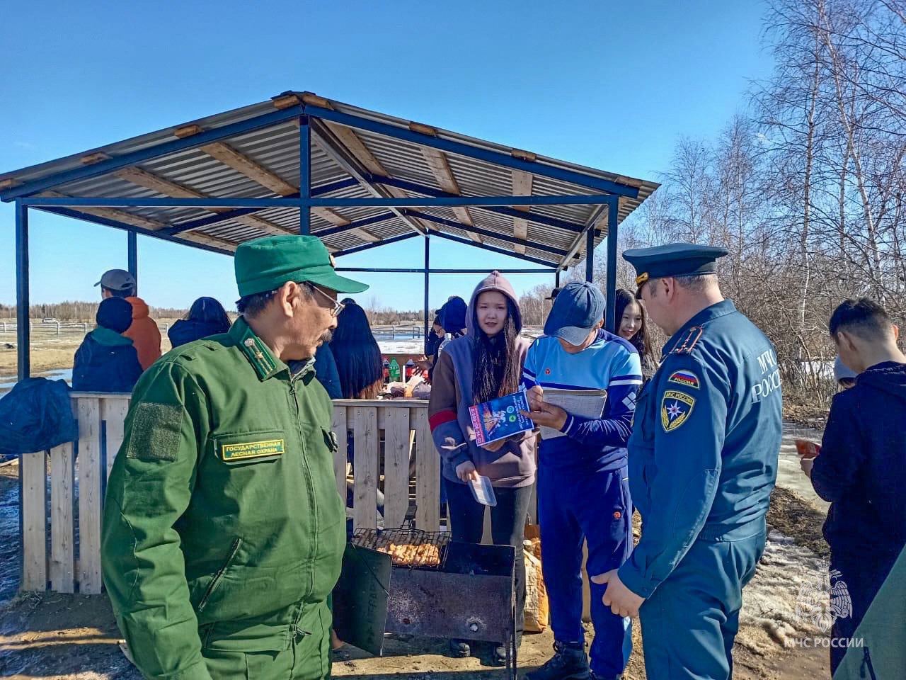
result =
M670 337L629 441L642 529L620 568L627 588L650 597L696 539L764 532L781 432L774 347L732 302L709 306Z

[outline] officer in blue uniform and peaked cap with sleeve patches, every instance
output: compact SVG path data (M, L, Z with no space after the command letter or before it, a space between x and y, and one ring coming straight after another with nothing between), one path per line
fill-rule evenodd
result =
M639 615L650 680L726 680L742 588L765 548L781 438L780 374L766 336L720 294L723 248L627 250L637 296L670 335L629 441L641 540L595 577L615 614Z

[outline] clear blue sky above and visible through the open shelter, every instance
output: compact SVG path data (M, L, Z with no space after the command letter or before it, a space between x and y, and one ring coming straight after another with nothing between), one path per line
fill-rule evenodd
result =
M714 135L769 72L759 2L236 1L15 3L0 28L0 171L285 90L648 180L679 135ZM126 235L32 211L32 302L92 299ZM440 245L440 244L439 244ZM599 253L601 251L599 250ZM418 267L419 239L341 266ZM433 267L535 267L443 242ZM140 295L236 299L232 258L139 238ZM361 275L362 301L420 308L419 275ZM553 277L514 275L521 292ZM430 305L476 275L433 277ZM0 204L0 302L15 300L14 214Z

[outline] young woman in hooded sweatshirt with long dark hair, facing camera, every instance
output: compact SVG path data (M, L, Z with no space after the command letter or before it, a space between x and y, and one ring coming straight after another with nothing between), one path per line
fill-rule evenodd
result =
M481 542L485 506L472 497L467 482L483 475L494 486L497 504L491 508L492 539L496 544L516 548L518 644L525 608L522 543L535 483L535 434L523 432L478 446L468 408L519 389L530 342L519 336L522 315L516 293L496 271L472 293L465 322L467 334L450 341L435 364L429 423L442 459L454 540ZM471 653L462 640L453 640L450 651L453 656ZM505 649L497 646L494 661L502 665L504 660Z

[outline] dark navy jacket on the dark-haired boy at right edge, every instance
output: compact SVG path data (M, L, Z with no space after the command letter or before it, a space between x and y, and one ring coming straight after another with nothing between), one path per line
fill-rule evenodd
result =
M899 553L906 544L906 364L885 362L834 397L814 491L829 500L834 551Z

